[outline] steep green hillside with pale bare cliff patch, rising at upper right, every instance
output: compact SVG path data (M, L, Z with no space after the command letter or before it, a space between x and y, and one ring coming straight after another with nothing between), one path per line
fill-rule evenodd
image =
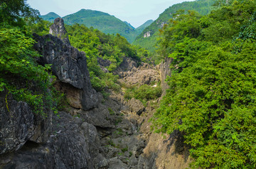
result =
M134 40L134 45L141 45L143 48L146 48L150 51L154 51L156 44L156 37L158 36L159 29L164 26L165 23L169 21L174 13L178 10L195 10L202 15L206 15L210 12L211 6L213 5L214 0L197 0L197 1L186 1L181 4L174 4L170 6L169 9L166 9L163 13L159 15L159 18L156 19L150 26L144 29L142 33L137 36Z

